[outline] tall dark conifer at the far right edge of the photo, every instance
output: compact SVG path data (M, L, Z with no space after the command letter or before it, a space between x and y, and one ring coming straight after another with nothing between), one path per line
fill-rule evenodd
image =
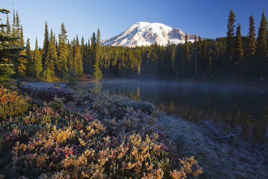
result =
M258 37L256 39L256 62L255 71L258 77L268 77L267 71L267 20L262 12L262 19L260 20L260 27L258 31Z

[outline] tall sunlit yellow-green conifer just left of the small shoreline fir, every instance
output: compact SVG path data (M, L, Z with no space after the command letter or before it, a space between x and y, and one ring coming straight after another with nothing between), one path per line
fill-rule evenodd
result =
M64 23L61 24L61 32L59 34L59 44L58 44L58 62L57 62L57 69L58 69L58 75L61 78L65 78L68 69L67 69L67 31L65 29Z

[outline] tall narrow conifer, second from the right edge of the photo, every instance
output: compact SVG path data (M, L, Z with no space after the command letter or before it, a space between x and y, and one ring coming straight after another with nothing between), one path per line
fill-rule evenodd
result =
M246 43L246 60L247 61L253 61L254 54L256 51L256 39L255 39L255 26L254 26L254 19L252 17L252 14L249 17L249 28L248 28L248 38Z

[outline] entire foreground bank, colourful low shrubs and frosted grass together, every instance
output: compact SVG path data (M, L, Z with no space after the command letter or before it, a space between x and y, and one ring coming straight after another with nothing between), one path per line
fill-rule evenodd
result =
M267 143L217 138L215 129L225 136L232 131L216 123L209 128L98 88L21 87L20 92L1 104L0 174L6 178L268 177Z

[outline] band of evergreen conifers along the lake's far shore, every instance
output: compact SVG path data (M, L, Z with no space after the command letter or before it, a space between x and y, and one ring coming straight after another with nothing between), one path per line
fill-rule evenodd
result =
M15 46L24 46L23 28L18 13L13 10L12 24L6 17L6 27L1 31L20 39L9 42ZM196 75L204 76L246 76L268 78L268 29L264 11L258 34L252 15L249 17L247 36L241 35L241 26L236 23L235 13L230 10L227 23L227 36L216 39L201 39L195 35L194 42L168 44L160 46L102 46L101 34L93 33L86 42L79 42L78 36L68 39L64 23L57 38L52 28L45 23L43 47L31 50L29 38L27 50L21 54L18 62L6 59L5 63L14 63L18 73L15 76L39 77L48 80L65 79L70 69L78 77L84 74L94 75L96 79L104 77L181 79ZM196 60L195 60L196 59ZM197 69L196 69L197 64Z

